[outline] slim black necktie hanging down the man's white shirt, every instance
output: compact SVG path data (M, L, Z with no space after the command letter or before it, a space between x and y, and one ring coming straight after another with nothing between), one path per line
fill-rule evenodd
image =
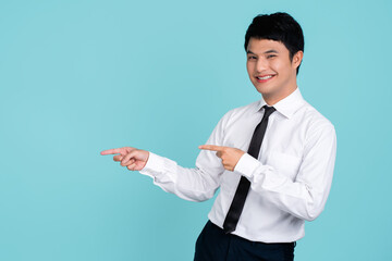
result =
M265 114L262 116L261 122L255 128L248 149L248 154L250 154L255 159L258 159L262 138L265 136L266 128L268 125L268 117L269 115L272 114L272 112L275 111L273 107L264 105L262 108L265 109ZM228 215L223 223L223 231L226 234L235 231L236 224L240 220L241 212L244 209L245 199L249 191L249 187L250 187L250 182L246 177L241 176L238 187L235 191L233 201L230 206Z

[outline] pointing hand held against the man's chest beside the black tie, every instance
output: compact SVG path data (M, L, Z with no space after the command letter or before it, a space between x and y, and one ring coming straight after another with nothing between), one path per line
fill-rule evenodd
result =
M217 151L217 157L222 159L223 167L228 171L234 171L236 163L245 151L231 147L201 145L199 149Z

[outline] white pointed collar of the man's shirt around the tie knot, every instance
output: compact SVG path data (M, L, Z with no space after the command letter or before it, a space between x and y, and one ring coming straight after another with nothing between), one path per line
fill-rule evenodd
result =
M274 103L273 108L277 109L277 111L283 114L285 117L290 119L304 103L305 100L301 95L299 88L297 87L286 98ZM257 111L260 111L261 108L266 104L267 102L261 97L261 100L259 101L259 104L257 107Z

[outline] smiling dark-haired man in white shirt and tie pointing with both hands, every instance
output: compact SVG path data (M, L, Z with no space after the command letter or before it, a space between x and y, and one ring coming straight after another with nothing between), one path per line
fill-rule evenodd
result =
M299 24L286 13L258 15L245 50L262 98L220 120L199 147L195 169L131 147L101 152L186 200L207 200L220 187L195 260L293 260L304 221L323 210L332 182L334 127L296 85L304 54Z

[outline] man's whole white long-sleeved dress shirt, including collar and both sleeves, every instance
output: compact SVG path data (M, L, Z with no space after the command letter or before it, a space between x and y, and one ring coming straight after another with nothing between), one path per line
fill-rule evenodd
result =
M229 111L208 145L247 151L264 115L264 99ZM273 105L258 159L242 156L233 172L222 166L215 151L201 150L195 169L187 169L152 152L142 174L164 191L204 201L220 192L208 214L223 227L241 175L250 181L243 212L232 233L253 241L290 243L305 235L304 223L324 208L335 161L334 126L307 103L299 89Z

